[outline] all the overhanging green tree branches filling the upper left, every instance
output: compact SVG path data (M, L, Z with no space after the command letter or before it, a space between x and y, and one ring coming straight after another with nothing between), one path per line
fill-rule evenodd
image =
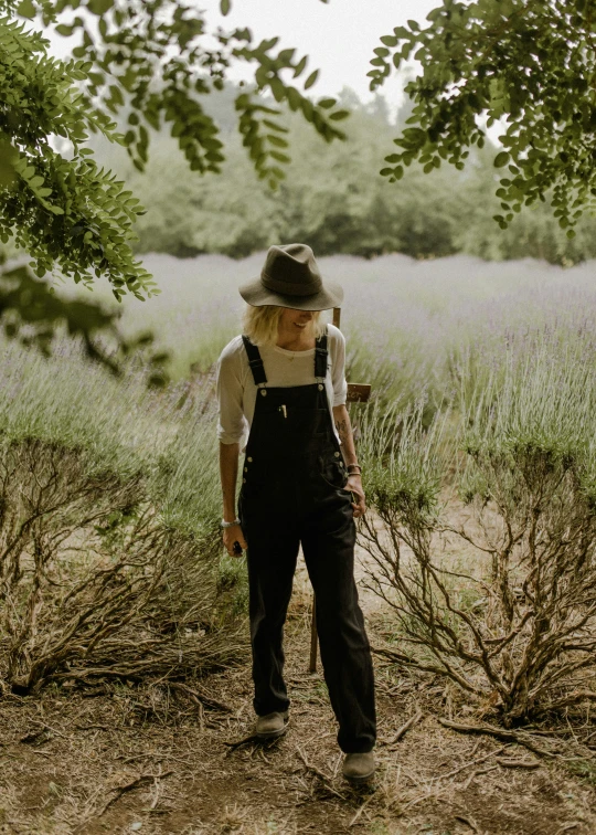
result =
M221 8L226 13L230 0ZM73 59L53 59L47 41L18 17L77 38ZM307 57L276 51L277 42L254 44L248 29L210 31L204 13L181 0L0 0L2 243L12 240L28 252L39 277L57 267L88 286L105 276L117 299L127 292L151 296L156 285L130 246L142 208L97 167L88 134L125 145L142 170L150 131L167 126L191 170L219 172L223 142L202 97L223 87L233 63L247 62L255 91L236 95L237 128L258 177L274 188L289 161L287 128L277 119L279 108L263 104L258 93L268 89L300 112L327 141L343 138L337 125L348 116L336 99L313 104L306 95L317 71L298 82L301 89L285 80L288 73L301 80ZM127 120L124 135L116 117ZM12 304L21 296L24 320L28 294L17 294ZM8 332L13 329L14 321Z

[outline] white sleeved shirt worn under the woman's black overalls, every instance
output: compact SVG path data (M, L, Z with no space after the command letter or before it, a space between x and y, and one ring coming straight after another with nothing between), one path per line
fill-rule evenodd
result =
M267 385L289 388L317 382L315 348L308 351L287 351L278 346L259 346L258 350L265 367ZM324 387L331 411L333 406L345 403L348 394L345 339L341 330L333 325L328 325L327 350ZM217 360L217 436L223 444L238 443L241 450L245 447L255 413L256 393L257 387L248 366L242 336L234 337ZM333 431L336 432L334 424Z

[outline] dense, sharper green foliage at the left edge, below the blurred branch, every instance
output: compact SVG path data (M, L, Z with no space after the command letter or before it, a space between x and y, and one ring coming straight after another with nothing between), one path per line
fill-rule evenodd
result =
M150 295L155 283L129 243L139 202L84 147L88 127L109 139L116 127L86 109L74 86L88 62L51 59L46 41L8 18L0 19L0 240L13 234L40 277L57 264L77 283L103 273L117 298ZM54 136L70 144L72 158L54 149Z

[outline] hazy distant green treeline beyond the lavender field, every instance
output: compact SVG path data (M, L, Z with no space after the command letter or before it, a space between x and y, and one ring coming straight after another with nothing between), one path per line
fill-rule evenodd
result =
M256 178L235 131L233 96L227 89L209 101L226 142L221 175L191 173L168 136L152 139L145 175L121 149L114 155L97 146L102 162L126 177L147 209L137 228L139 252L241 258L273 242L301 241L320 255L400 252L423 258L467 253L557 264L596 257L596 221L588 215L573 240L546 204L524 209L501 231L492 215L502 212L494 197L502 172L492 166L490 144L470 154L464 171L444 163L424 175L413 167L390 184L379 170L408 114L400 113L392 124L383 98L364 105L349 89L341 96L353 113L342 123L349 137L344 142L327 145L296 115L285 117L291 162L283 186L272 192Z

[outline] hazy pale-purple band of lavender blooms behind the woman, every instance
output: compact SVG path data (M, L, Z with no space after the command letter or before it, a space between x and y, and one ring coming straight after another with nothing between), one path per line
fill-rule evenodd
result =
M178 379L192 363L207 370L238 332L244 303L236 287L258 275L263 260L264 253L244 261L146 256L161 295L147 303L127 299L124 329L153 329L158 345L172 353ZM489 349L507 334L592 327L596 262L565 269L533 260L482 262L465 255L319 261L323 275L345 289L341 324L352 376L372 374L377 393L389 388L407 398L421 388L441 389L455 356L467 347Z

